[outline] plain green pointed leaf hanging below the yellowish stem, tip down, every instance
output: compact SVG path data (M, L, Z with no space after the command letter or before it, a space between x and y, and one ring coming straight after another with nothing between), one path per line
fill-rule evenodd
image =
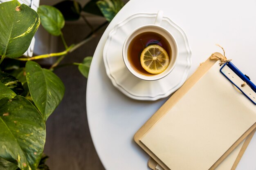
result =
M46 121L63 98L64 84L52 71L41 68L36 62L28 61L26 72L31 97Z

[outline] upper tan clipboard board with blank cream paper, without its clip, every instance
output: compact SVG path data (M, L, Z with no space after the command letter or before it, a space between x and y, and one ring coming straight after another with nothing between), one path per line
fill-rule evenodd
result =
M219 62L209 58L134 139L166 170L213 170L255 123L256 105L220 73Z

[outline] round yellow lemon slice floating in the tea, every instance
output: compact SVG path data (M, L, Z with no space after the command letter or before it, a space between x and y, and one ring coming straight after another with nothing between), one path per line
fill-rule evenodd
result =
M147 46L140 55L141 66L152 74L162 73L169 64L169 56L159 45Z

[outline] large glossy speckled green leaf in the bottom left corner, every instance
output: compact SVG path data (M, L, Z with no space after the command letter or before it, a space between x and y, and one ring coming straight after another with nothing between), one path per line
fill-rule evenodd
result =
M0 100L0 157L21 170L36 170L45 145L45 121L24 97Z

